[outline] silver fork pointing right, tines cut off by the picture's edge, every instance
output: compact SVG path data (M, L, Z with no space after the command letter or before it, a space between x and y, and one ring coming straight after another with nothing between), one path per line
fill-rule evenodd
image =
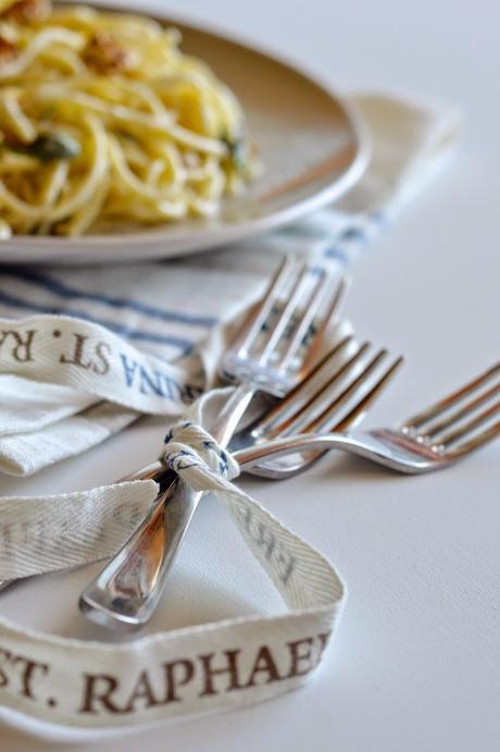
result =
M399 429L302 434L235 452L246 470L282 480L301 471L276 460L298 452L341 449L403 473L440 470L500 435L500 362L443 399L405 420ZM342 429L345 431L345 429Z

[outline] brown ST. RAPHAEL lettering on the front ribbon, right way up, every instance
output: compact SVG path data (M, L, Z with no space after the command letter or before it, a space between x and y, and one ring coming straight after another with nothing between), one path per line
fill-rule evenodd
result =
M160 659L125 678L109 671L78 671L80 692L75 696L73 712L129 715L288 681L316 668L328 637L320 633L274 646L230 648ZM72 712L66 699L51 692L51 677L55 675L57 667L0 645L0 704L4 704L2 695L7 694L47 707L58 707L64 700L66 712Z

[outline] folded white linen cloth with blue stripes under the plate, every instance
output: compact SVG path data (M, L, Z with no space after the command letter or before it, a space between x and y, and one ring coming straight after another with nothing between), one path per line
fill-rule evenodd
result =
M0 471L30 474L95 446L142 412L175 415L183 404L179 400L176 409L173 399L164 407L158 400L116 400L96 391L88 379L64 383L53 370L28 369L26 362L21 368L29 317L38 322L40 316L51 317L51 326L59 321L54 336L68 336L68 320L76 318L93 326L92 333L121 337L132 348L123 360L127 378L135 378L136 367L142 369L137 354L143 354L174 369L184 386L190 381L195 396L210 385L227 330L258 298L278 256L293 252L340 273L425 186L457 143L460 118L448 108L387 94L352 100L365 118L373 156L359 184L334 207L263 238L187 259L125 267L0 268ZM24 329L14 332L13 319L22 319ZM76 335L75 347L84 344L78 336L84 335ZM53 346L47 337L43 343ZM102 368L104 363L102 358ZM158 392L159 382L148 378ZM171 370L165 378L171 379Z

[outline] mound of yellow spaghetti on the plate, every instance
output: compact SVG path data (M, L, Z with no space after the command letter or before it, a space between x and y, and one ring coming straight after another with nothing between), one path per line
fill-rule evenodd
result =
M175 29L0 0L0 237L212 217L253 164L235 95Z

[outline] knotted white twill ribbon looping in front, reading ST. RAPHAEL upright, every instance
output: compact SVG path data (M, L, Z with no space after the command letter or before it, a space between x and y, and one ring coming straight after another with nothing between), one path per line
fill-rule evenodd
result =
M343 602L332 565L230 479L239 472L198 422L227 390L172 429L165 460L212 491L288 606L121 645L49 637L0 619L0 717L15 711L77 729L143 725L246 706L302 685L317 668ZM0 503L0 578L111 555L152 503L151 481ZM40 732L40 729L38 729Z

